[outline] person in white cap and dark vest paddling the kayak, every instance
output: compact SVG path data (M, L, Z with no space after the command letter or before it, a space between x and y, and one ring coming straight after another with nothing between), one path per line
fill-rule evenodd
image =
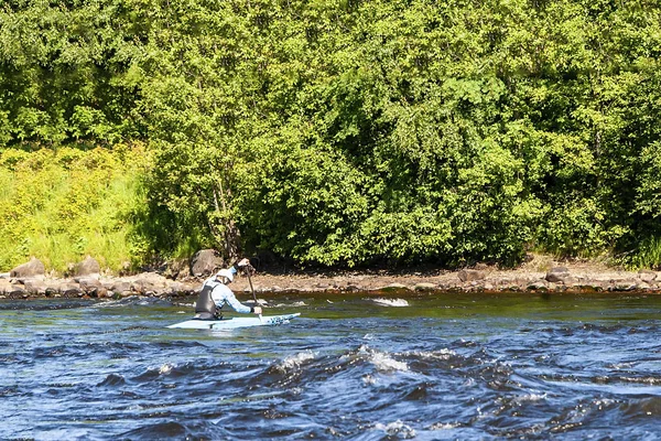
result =
M234 280L238 270L248 265L250 265L250 261L243 258L230 268L221 269L204 281L202 291L195 303L195 319L221 319L221 309L225 304L229 304L236 312L261 314L261 306L254 305L253 308L250 308L241 304L234 292L227 287Z

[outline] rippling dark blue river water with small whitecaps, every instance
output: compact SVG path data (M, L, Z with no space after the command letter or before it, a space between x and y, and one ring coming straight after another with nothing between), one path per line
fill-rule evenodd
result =
M280 295L289 325L169 330L193 299L0 302L0 439L660 437L661 297Z

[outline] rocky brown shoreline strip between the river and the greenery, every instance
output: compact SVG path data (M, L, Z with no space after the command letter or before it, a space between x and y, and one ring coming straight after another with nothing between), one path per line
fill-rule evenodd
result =
M216 265L217 267L217 265ZM177 298L197 294L214 263L197 271L143 272L131 276L102 275L96 260L78 263L69 277L45 273L37 259L0 273L0 299L98 298L130 295ZM231 289L238 294L368 292L399 294L423 292L643 292L661 293L661 271L625 271L595 263L556 262L549 258L519 268L500 270L477 266L457 271L258 271L250 280L237 277Z

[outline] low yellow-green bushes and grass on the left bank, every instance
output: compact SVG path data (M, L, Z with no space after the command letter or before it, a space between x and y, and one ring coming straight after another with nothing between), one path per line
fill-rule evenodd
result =
M0 268L30 256L61 273L86 255L113 271L140 263L148 246L134 217L148 162L140 146L0 153Z

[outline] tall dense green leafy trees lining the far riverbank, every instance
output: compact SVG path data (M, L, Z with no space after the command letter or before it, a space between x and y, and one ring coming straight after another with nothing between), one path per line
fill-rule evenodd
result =
M657 2L0 11L0 142L148 141L134 220L150 252L460 265L535 247L661 265Z

